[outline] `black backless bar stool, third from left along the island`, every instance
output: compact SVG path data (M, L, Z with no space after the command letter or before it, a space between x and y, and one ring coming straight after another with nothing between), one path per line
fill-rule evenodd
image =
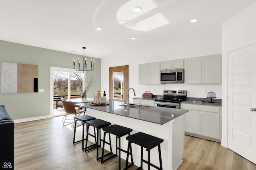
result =
M128 168L130 166L132 166L134 164L133 159L132 159L132 153L121 149L121 137L123 137L125 135L130 136L130 132L132 131L132 129L127 128L127 127L123 127L123 126L120 126L120 125L111 125L111 126L104 127L102 130L105 131L105 132L104 132L104 139L103 139L101 163L103 164L107 160L110 160L111 158L113 158L115 156L118 156L118 169L120 170L120 168L121 168L121 151L123 151L123 152L131 155L132 163L128 166ZM105 147L105 143L106 143L105 138L106 138L107 133L108 133L108 135L110 135L110 133L111 133L111 134L116 136L116 154L114 154L114 155L112 155L112 156L110 156L110 157L108 157L107 159L104 160L103 158L105 156L113 154L112 149L110 147L110 153L104 155L104 147ZM117 145L117 139L118 139L118 145ZM111 141L109 141L109 143L111 145ZM118 155L117 155L117 150L118 150Z

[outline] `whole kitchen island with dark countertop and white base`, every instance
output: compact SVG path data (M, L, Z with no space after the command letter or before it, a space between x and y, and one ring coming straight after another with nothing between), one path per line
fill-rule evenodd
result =
M108 101L106 106L90 106L90 103L79 104L86 107L86 114L110 122L112 125L117 124L133 129L131 134L139 131L164 139L161 144L162 164L164 170L172 170L178 168L182 163L182 155L184 153L184 113L188 110L171 109L165 107L141 107L126 108L123 102ZM93 134L93 128L90 128L90 133ZM102 133L103 139L103 133ZM89 137L90 141L94 141ZM114 136L111 140L115 141ZM112 142L112 147L115 147L115 142ZM121 139L121 147L126 150L128 141L125 137ZM108 145L106 150L110 150ZM132 153L134 164L140 166L140 147L132 144ZM144 156L147 155L144 149ZM150 161L153 164L159 165L157 147L151 150ZM121 152L121 157L126 159L126 154ZM145 158L147 159L147 158ZM129 160L130 161L130 160ZM146 164L144 167L147 167ZM154 169L152 167L152 169Z

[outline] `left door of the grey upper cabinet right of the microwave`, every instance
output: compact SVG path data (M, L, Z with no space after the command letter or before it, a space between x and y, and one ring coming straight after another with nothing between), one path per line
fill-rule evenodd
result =
M185 82L186 84L200 84L201 83L201 57L193 57L184 59L185 64Z

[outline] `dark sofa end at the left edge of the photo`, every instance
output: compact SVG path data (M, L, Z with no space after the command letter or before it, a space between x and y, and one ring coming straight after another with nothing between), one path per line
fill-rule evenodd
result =
M14 169L14 121L0 105L0 169Z

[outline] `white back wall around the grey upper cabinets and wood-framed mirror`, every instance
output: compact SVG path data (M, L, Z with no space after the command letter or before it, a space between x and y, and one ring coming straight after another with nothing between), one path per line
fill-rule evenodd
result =
M137 41L137 40L136 40ZM109 67L129 65L129 88L133 87L136 97L141 97L145 91L151 91L154 95L162 95L164 89L187 90L188 97L206 98L207 92L213 91L217 98L222 98L222 85L195 85L195 84L164 84L164 85L142 85L138 83L138 64L199 57L221 53L221 35L211 35L203 39L193 39L182 43L168 44L154 49L131 49L117 58L102 59L101 66L101 91L108 94ZM130 94L132 101L133 94Z

